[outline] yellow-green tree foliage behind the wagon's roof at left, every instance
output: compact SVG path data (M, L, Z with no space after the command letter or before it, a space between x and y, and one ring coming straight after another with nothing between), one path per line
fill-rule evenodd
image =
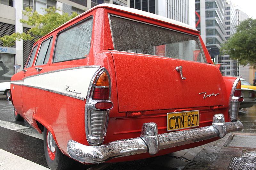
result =
M28 19L20 19L20 22L33 27L27 33L13 33L12 35L0 37L4 46L12 46L15 44L15 41L33 40L35 37L42 37L77 16L76 12L73 12L70 16L68 16L68 13L61 15L57 12L59 9L55 7L44 8L44 10L46 11L44 15L39 14L37 11L33 12L32 8L29 7L22 11L23 15L27 16Z

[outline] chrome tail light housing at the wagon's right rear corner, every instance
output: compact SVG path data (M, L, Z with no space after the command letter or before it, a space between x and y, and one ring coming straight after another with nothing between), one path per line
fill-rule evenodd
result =
M231 121L237 120L240 103L242 101L244 101L244 98L241 97L241 81L239 78L236 78L229 98L229 115Z

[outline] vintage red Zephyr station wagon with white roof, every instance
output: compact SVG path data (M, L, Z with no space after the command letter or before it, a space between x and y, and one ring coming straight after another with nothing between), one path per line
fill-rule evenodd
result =
M159 156L243 127L240 79L222 77L194 27L112 4L37 41L11 96L15 119L44 132L51 169Z

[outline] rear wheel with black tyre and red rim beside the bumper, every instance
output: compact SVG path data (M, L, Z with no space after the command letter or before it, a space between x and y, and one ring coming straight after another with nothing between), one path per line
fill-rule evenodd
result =
M48 147L49 144L49 147ZM44 154L51 170L68 170L75 160L64 155L54 141L52 133L44 127Z

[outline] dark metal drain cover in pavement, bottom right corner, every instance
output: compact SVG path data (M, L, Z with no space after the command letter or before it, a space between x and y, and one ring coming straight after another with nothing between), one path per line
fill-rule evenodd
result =
M256 159L233 157L229 168L232 170L256 170Z

